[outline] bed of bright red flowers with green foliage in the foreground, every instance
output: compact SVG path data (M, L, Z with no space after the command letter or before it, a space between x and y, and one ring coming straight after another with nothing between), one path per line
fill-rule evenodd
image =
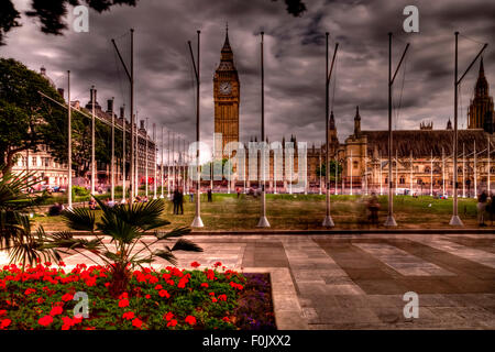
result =
M66 273L50 263L24 271L7 265L0 271L0 330L249 329L245 311L242 317L237 312L250 283L237 272L219 272L219 266L135 271L129 289L114 298L109 294L107 267L80 264ZM76 293L87 294L87 318L75 316L80 302L74 299ZM260 297L267 299L267 295ZM265 309L266 302L260 307ZM270 316L268 321L254 312L250 321L257 321L253 328L273 329L273 312Z

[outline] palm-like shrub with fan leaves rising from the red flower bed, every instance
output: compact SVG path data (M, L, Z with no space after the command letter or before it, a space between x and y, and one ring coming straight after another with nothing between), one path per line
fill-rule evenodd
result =
M156 230L169 224L169 221L162 218L165 210L165 202L162 199L118 205L112 208L98 199L96 201L102 210L99 220L88 208L68 209L62 213L72 230L89 231L90 239L74 237L69 231L44 234L42 250L76 252L95 264L100 265L103 262L112 273L110 292L114 296L127 289L131 272L135 266L151 264L156 257L162 257L175 265L177 263L173 253L175 251L202 252L202 249L189 240L177 239L189 233L189 228L176 228L169 232ZM150 233L151 231L153 232ZM144 239L147 234L153 237L150 243L146 243ZM174 245L168 243L172 239L177 239ZM153 249L160 241L166 242L163 249ZM85 251L95 254L101 262L85 254Z

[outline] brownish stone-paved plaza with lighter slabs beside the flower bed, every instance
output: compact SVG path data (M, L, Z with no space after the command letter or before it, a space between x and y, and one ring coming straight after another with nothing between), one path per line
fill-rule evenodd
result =
M493 234L188 239L205 252L179 253L179 267L220 261L245 273L270 273L279 329L495 329ZM80 254L64 262L91 264ZM419 318L404 317L407 292L418 294Z

